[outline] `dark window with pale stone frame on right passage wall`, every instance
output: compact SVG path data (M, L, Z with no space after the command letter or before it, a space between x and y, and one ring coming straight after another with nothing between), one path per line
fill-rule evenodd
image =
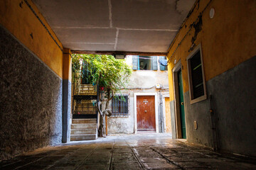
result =
M206 83L203 73L201 45L187 57L191 104L206 99Z

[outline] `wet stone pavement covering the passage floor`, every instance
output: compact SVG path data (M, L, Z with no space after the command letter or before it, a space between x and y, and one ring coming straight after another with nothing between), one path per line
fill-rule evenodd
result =
M254 158L218 154L166 134L108 136L45 147L0 169L256 169Z

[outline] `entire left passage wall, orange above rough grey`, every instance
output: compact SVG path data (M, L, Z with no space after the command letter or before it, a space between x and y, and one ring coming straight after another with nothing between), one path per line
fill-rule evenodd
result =
M0 1L0 160L62 142L62 49L31 0Z

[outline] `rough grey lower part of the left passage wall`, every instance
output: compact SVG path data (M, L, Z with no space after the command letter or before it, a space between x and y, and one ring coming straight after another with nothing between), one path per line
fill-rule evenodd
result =
M1 26L0 51L0 159L59 144L62 79Z

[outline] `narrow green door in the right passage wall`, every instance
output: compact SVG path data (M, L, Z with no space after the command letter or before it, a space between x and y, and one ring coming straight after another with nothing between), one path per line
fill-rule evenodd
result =
M180 98L181 133L182 133L182 138L186 139L186 122L185 122L185 110L184 110L183 84L182 84L181 70L178 71L178 94L179 94L179 98Z

